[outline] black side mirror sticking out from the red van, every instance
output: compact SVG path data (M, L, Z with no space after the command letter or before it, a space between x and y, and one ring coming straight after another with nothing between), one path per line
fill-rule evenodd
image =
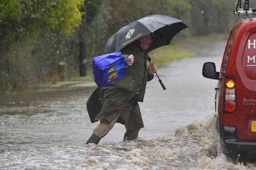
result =
M202 75L208 79L219 79L220 72L216 72L216 66L213 62L206 62L204 63Z

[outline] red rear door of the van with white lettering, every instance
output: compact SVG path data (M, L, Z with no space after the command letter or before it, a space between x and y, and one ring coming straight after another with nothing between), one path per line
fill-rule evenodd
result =
M234 47L238 48L236 60L229 63L228 73L236 77L237 110L232 124L238 128L239 139L256 140L256 20L248 20L240 31L239 46Z

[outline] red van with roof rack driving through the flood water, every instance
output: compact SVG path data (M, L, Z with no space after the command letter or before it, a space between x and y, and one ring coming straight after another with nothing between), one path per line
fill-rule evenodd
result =
M242 10L244 12L242 12ZM235 13L256 12L236 9ZM206 62L202 75L218 79L215 122L224 152L235 159L256 161L256 18L239 20L233 27L220 72Z

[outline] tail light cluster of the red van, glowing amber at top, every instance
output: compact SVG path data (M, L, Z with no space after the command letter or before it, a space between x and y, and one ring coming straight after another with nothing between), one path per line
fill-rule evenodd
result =
M236 78L234 76L227 75L225 79L225 100L224 111L225 113L234 113L237 109L236 104Z

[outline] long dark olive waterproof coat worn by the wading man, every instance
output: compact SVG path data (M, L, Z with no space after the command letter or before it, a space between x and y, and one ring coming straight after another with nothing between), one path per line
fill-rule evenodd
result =
M148 75L148 56L142 51L138 43L128 45L121 52L125 56L134 55L132 67L125 69L123 77L104 87L95 89L89 97L86 107L92 123L99 120L109 124L132 100L134 109L129 118L128 128L129 131L133 131L144 127L137 101L143 102L146 82L152 80L153 75ZM124 124L120 118L117 122Z

